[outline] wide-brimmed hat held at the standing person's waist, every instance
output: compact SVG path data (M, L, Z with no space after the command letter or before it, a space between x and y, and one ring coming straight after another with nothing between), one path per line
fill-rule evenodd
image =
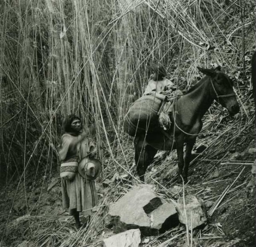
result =
M101 172L101 162L95 158L85 157L78 164L78 172L84 179L94 180Z

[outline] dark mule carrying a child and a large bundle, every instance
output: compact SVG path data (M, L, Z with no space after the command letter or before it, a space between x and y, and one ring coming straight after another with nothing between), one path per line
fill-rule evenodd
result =
M183 94L173 104L169 114L172 125L169 130L159 130L135 137L135 163L140 180L144 182L144 175L148 165L154 159L157 150L177 150L178 157L178 183L187 182L191 152L196 137L202 129L202 117L214 101L218 101L227 108L230 115L239 112L239 105L233 91L233 82L220 71L215 69L199 68L206 76ZM183 147L186 143L185 161Z

